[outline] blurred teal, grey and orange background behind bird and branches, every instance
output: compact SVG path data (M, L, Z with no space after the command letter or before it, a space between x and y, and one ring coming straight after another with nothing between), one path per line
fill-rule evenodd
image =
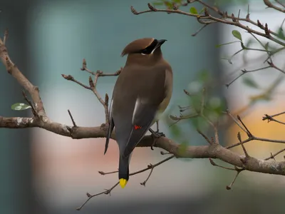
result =
M266 66L266 55L247 51L234 56L231 64L229 57L239 51L240 44L217 45L237 41L232 36L232 30L237 28L213 24L197 36L191 36L200 25L189 16L164 13L135 16L130 12L131 5L138 11L147 9L147 2L0 1L0 32L4 34L4 29L9 28L9 54L24 75L40 88L46 113L52 121L71 125L67 112L70 109L78 126L104 123L103 107L93 93L66 81L61 74L71 74L88 84L88 73L80 70L83 58L90 70L114 73L124 66L126 58L121 58L120 53L130 41L155 37L167 39L162 51L174 71L172 101L165 120L160 122L160 130L167 136L188 146L207 143L195 131L199 121L181 121L170 126L167 119L170 113L179 115L178 105L189 104L183 89L191 93L197 91L206 76L208 80L215 78L218 83L211 91L215 105L239 112L258 137L284 138L283 126L261 120L264 113L272 115L284 111L284 83L276 81L282 79L280 72L269 68L248 73L247 78L239 78L229 88L225 86L239 76L241 69ZM247 4L250 4L251 18L266 22L272 30L279 29L284 19L284 14L265 9L263 1L223 1L221 4L229 14L237 14L241 9L241 16L247 14ZM198 11L202 9L198 4L194 6ZM189 11L190 6L181 9ZM250 34L239 31L244 44L257 45ZM283 62L284 53L274 58L274 63L280 67ZM100 78L99 93L110 95L115 79ZM257 98L269 87L274 88L270 99ZM1 65L1 116L31 116L29 110L11 110L11 104L24 102L21 89ZM220 130L224 145L237 143L238 127L234 124L228 127ZM99 193L118 180L117 174L103 176L98 173L118 168L118 146L112 141L108 153L103 156L104 144L104 138L73 140L39 128L0 129L0 213L285 212L282 176L242 172L232 190L226 190L235 172L215 168L207 159L173 159L155 168L145 187L140 183L147 178L148 172L132 176L125 189L115 188L111 196L100 195L81 211L76 211L86 200L86 192ZM251 142L247 149L251 156L266 158L281 146ZM160 151L159 148L154 151L136 148L130 171L161 161L165 156L160 155ZM242 153L240 148L234 151Z

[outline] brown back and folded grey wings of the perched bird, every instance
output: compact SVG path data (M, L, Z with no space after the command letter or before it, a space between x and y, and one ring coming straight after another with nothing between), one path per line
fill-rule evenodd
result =
M125 67L120 73L114 88L113 119L122 156L130 156L152 125L166 96L166 69Z

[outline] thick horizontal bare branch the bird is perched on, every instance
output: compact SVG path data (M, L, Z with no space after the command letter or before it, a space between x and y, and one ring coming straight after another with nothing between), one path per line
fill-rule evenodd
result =
M105 138L105 124L96 127L71 127L51 121L40 121L36 118L4 118L0 117L0 128L43 128L47 131L68 136L73 139L81 138ZM70 131L69 131L70 130ZM113 133L111 138L115 140ZM151 136L145 136L138 147L150 147L154 143ZM170 138L156 139L155 147L162 148L175 155L177 158L218 158L234 166L242 167L258 173L285 175L285 161L264 161L253 157L242 156L224 148L216 143L210 146L188 146L181 151L180 144Z

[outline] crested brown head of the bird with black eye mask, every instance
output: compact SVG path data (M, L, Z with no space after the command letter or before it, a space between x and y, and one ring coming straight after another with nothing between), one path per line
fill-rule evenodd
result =
M167 41L166 39L143 38L132 41L125 46L121 56L128 55L128 61L144 63L156 61L162 58L160 46Z

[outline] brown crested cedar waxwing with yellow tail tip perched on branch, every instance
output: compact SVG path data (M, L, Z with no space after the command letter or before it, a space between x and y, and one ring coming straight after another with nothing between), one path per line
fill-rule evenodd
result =
M129 180L131 153L170 103L172 68L162 58L160 49L165 41L138 39L128 44L121 55L128 55L128 58L115 83L110 102L105 153L115 127L120 151L119 180L122 188Z

